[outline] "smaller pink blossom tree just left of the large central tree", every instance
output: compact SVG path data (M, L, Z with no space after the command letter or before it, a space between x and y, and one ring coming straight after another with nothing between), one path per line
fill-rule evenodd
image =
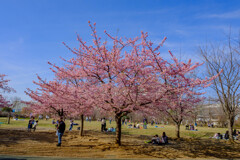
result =
M83 136L83 116L90 115L93 111L91 99L86 97L87 91L80 80L72 79L69 76L70 71L64 72L60 68L58 69L58 72L53 70L56 76L55 80L47 82L38 76L39 81L34 81L34 83L39 88L36 91L27 89L25 93L38 102L31 104L35 113L48 111L60 117L80 115L80 135Z

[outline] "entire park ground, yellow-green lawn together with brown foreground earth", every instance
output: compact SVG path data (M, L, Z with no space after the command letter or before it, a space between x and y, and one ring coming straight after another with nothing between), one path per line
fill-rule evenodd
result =
M28 155L45 157L75 158L240 158L239 141L230 144L226 140L210 139L214 133L225 133L226 128L198 127L198 131L188 131L181 127L181 139L175 139L174 125L148 126L148 129L132 129L122 126L122 145L116 146L115 135L100 132L101 122L84 123L84 136L79 136L77 126L68 131L70 122L66 120L66 132L60 148L56 147L57 136L52 119L40 120L36 132L28 132L29 119L13 120L0 118L0 155ZM75 123L80 121L76 120ZM107 128L115 127L115 122ZM168 145L145 143L155 134L166 132ZM0 158L1 159L1 158Z

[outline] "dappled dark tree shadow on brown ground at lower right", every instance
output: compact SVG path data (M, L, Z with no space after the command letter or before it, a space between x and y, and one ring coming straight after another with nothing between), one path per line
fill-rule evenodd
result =
M134 154L143 154L154 158L239 158L240 145L228 144L224 140L181 139L171 140L170 144L155 146L145 144L134 149Z

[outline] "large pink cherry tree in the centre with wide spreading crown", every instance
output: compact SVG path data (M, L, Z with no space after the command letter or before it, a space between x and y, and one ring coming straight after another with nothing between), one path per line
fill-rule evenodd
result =
M147 40L147 33L141 37L118 38L106 35L112 42L102 42L97 36L96 24L89 26L92 30L93 44L88 45L79 36L79 47L70 48L73 58L64 60L63 67L49 63L55 73L54 81L43 81L39 77L39 91L29 94L47 108L60 106L66 111L79 109L81 115L91 111L93 106L102 112L113 113L116 120L116 141L121 145L121 118L131 112L151 113L157 106L163 110L167 102L177 101L176 110L188 108L188 103L198 100L190 96L201 93L193 88L201 89L210 85L213 78L200 80L191 79L191 73L200 64L192 65L178 62L171 54L173 61L168 62L160 56L159 49L166 38L154 47ZM67 104L67 105L65 105ZM184 113L181 113L183 115Z

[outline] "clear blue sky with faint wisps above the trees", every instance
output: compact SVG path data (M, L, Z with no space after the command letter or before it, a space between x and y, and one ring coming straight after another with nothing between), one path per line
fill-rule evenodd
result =
M62 45L77 47L76 32L90 41L88 21L97 23L104 37L110 34L135 37L148 32L153 42L168 39L163 48L183 59L199 61L197 47L226 40L230 27L240 29L239 0L0 0L0 73L18 96L35 88L36 74L51 79L48 61L62 64L59 57L72 55Z

